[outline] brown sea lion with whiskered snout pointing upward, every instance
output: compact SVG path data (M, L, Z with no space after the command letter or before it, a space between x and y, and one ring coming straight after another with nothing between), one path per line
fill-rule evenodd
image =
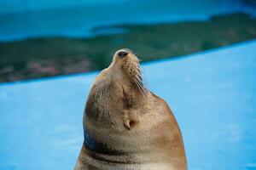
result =
M137 56L120 49L90 89L75 170L185 170L183 138L164 99L146 88Z

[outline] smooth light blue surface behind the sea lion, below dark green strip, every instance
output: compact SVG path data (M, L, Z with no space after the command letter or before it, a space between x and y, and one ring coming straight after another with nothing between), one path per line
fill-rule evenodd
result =
M177 117L189 169L256 169L256 40L143 64ZM0 169L72 169L98 72L0 85Z

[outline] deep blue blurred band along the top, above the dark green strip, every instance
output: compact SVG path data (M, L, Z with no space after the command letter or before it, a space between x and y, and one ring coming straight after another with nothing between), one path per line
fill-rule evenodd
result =
M94 37L102 32L125 32L96 32L96 26L208 20L212 14L235 12L256 16L256 9L240 0L2 0L0 42L29 37Z

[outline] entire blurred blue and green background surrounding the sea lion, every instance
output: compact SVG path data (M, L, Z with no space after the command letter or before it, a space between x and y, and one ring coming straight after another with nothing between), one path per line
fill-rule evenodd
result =
M256 0L0 0L0 170L73 169L119 48L171 106L189 169L256 169Z

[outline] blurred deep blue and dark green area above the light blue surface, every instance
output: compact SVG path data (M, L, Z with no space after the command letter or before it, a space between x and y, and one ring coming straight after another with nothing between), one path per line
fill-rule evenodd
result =
M0 0L0 82L101 70L256 38L254 0Z

